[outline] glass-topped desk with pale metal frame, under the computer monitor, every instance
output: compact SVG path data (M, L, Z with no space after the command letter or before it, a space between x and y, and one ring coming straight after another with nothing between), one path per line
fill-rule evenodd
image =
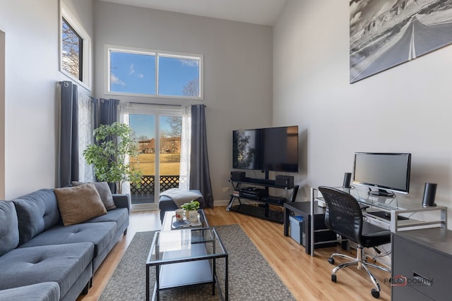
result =
M414 202L405 197L376 197L367 194L367 188L337 188L353 195L358 202L369 206L363 212L369 219L376 219L381 223L387 223L392 233L400 230L415 228L427 228L430 226L439 226L447 228L447 207L422 207L422 202ZM314 202L322 200L321 193L317 188L311 188L311 212L314 212ZM387 211L391 213L391 218L382 218L372 214L372 211ZM428 213L428 214L424 214ZM400 219L399 216L408 217ZM311 225L311 237L314 237L314 225ZM311 255L314 254L314 240L311 240ZM313 255L314 256L314 255Z

